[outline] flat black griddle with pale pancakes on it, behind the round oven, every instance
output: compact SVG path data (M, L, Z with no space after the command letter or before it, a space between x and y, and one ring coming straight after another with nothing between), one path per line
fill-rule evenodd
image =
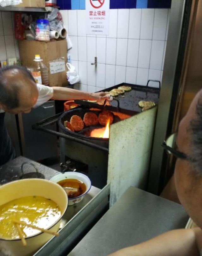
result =
M156 81L156 82L159 82L159 81ZM110 101L111 106L99 105L94 102L89 102L87 100L80 100L80 99L74 100L74 102L79 105L84 105L88 107L106 109L109 111L121 112L128 115L134 115L135 113L140 113L142 111L142 108L139 107L138 105L138 102L140 100L153 101L155 102L156 105L158 104L159 93L160 93L160 82L159 82L159 88L149 87L148 83L147 83L147 86L122 83L116 86L112 86L110 88L106 88L102 91L99 91L99 92L109 92L112 89L118 88L119 86L123 86L123 85L131 87L132 89L131 91L125 92L124 94L120 94L114 97L114 99Z

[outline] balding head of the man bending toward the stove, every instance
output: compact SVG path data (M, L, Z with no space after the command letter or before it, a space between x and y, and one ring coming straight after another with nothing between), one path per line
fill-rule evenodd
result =
M3 110L30 112L37 98L37 86L27 68L9 66L0 70L0 107Z

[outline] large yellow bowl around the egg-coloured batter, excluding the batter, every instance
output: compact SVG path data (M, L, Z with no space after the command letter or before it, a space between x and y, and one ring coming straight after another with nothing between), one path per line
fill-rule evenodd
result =
M48 229L57 232L60 227L62 215L68 206L68 197L62 187L54 182L44 179L22 179L9 182L0 187L0 205L25 196L43 196L56 202L61 210L61 217ZM27 246L23 246L20 239L0 238L0 250L9 256L33 255L53 235L38 233L26 237Z

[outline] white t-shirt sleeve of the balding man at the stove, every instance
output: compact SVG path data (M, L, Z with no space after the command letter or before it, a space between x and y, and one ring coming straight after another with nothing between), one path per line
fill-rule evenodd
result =
M49 99L53 97L53 88L45 85L37 84L37 89L39 91L39 97L37 103L33 106L34 108L39 107ZM0 108L0 113L4 111Z

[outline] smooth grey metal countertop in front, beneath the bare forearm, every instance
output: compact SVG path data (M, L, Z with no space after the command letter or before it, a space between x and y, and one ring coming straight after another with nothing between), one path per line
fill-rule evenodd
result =
M130 187L68 256L108 255L163 232L184 228L187 221L180 204Z

